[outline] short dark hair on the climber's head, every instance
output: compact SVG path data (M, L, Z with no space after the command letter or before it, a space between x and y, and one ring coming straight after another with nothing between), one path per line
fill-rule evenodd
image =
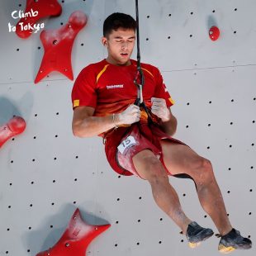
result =
M107 37L112 30L116 31L120 27L136 31L137 22L128 14L114 12L104 21L103 36Z

